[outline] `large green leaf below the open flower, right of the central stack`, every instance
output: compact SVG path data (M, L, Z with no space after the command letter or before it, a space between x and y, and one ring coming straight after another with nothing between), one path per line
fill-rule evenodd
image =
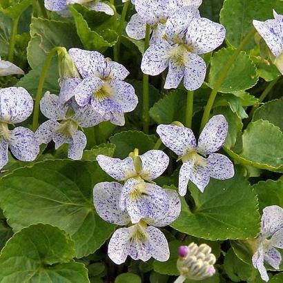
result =
M259 232L257 197L242 174L236 171L232 179L211 179L204 193L193 184L189 190L195 208L181 199L182 211L171 224L177 231L208 240L246 239Z

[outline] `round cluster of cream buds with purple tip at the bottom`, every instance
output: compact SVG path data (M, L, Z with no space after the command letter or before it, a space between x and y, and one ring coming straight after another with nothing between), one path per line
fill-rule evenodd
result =
M177 268L179 273L190 280L204 280L215 274L216 258L207 244L197 246L191 243L179 247Z

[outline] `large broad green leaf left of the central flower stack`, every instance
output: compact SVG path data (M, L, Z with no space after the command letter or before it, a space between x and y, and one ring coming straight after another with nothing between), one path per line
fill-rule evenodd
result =
M115 228L92 204L93 186L107 180L97 162L39 162L1 179L1 208L14 231L39 222L65 230L75 242L76 257L84 257L104 244Z

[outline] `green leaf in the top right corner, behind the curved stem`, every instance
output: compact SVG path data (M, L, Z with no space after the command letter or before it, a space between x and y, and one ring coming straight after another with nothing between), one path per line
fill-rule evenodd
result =
M240 45L244 37L253 28L253 20L265 21L273 19L272 10L283 13L281 0L225 0L220 12L220 22L226 28L226 39L233 46ZM255 42L251 39L248 46L253 48Z

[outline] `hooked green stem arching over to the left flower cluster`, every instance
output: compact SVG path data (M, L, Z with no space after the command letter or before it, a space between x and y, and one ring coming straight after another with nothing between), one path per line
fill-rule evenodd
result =
M50 50L50 52L48 53L46 60L44 62L44 66L43 69L41 71L41 75L39 77L39 84L37 87L37 94L35 96L35 108L33 110L33 119L32 119L32 130L35 132L35 130L37 130L37 127L39 125L39 106L40 106L40 99L42 96L42 90L43 90L43 85L44 85L44 81L46 79L46 75L48 72L48 68L50 65L50 62L52 60L52 57L59 51L65 52L66 49L62 48L62 47L55 47L52 48L52 50Z

